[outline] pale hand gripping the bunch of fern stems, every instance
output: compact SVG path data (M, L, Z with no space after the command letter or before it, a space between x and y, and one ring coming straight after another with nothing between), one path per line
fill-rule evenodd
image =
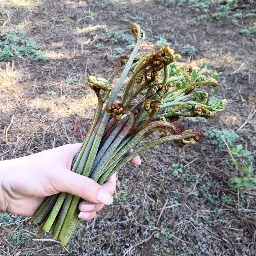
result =
M46 196L68 192L84 200L79 218L91 220L105 204L113 202L116 174L103 185L71 172L71 164L81 143L0 162L0 213L33 216ZM132 152L132 151L130 151ZM138 156L131 164L140 165Z

